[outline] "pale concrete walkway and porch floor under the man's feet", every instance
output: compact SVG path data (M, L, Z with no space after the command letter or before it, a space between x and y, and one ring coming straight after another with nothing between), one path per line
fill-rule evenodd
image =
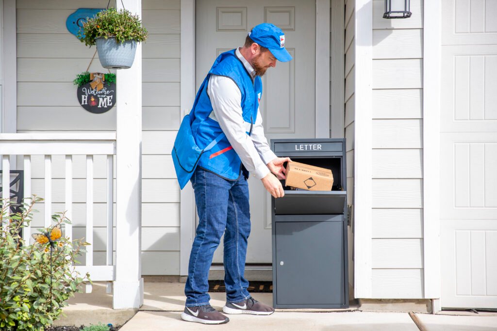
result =
M497 331L497 314L442 312L443 315L415 314L420 328L408 313L364 312L350 309L278 309L270 316L230 315L225 325L210 326L181 320L184 309L184 284L146 282L144 305L137 310L113 310L112 296L103 283L95 283L93 293L78 293L67 315L57 326L89 325L98 322L122 325L121 331L160 330L333 330L333 331ZM211 304L221 310L224 293L210 293ZM255 293L254 298L272 304L271 293ZM446 314L461 314L454 316ZM126 322L127 321L127 322ZM423 329L424 328L424 329Z

